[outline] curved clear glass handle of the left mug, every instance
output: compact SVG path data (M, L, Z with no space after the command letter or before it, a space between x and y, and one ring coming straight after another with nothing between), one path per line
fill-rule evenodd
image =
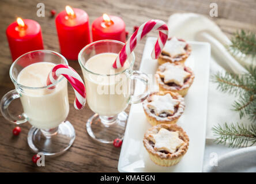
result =
M9 120L10 122L13 122L15 124L22 124L28 121L25 114L15 116L13 114L10 114L8 109L10 103L16 98L20 98L20 94L17 92L17 90L12 90L6 93L0 102L1 113L3 117L6 118L6 120Z

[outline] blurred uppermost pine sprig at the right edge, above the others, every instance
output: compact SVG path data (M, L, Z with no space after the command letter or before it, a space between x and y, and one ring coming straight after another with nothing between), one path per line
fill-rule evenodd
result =
M232 44L229 46L234 53L242 52L245 55L256 56L256 36L253 32L240 30L236 32L231 39Z

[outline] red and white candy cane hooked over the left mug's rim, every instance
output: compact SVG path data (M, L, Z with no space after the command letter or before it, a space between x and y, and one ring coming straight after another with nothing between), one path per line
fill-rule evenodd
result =
M74 89L76 95L76 99L74 100L74 108L77 110L84 108L86 102L85 85L84 82L82 82L80 75L78 75L77 72L70 66L66 64L58 64L57 66L53 67L46 81L47 86L57 81L60 75L63 75ZM54 88L55 86L52 86L49 89Z

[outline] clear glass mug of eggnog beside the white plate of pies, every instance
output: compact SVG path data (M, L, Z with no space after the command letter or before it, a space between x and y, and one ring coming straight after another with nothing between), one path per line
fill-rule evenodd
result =
M129 62L129 68L119 73L102 75L86 67L86 62L91 57L100 53L117 54L123 45L124 43L116 40L95 41L86 45L78 55L78 62L84 75L86 103L95 112L86 122L86 131L93 139L101 143L112 143L114 139L122 138L127 121L127 114L124 110L129 104L140 103L149 95L148 76L133 70L134 52L126 60ZM141 85L136 85L136 91L140 91L138 95L131 94L131 91L134 91L135 81L141 83ZM137 86L140 86L140 90L137 90Z

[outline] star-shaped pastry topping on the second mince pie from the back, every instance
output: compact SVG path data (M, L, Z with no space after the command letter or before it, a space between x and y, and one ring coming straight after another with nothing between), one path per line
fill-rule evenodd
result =
M163 72L159 71L157 74L164 78L164 83L174 82L179 86L183 86L184 79L191 75L190 72L184 70L184 66L171 63L166 64L165 70Z

